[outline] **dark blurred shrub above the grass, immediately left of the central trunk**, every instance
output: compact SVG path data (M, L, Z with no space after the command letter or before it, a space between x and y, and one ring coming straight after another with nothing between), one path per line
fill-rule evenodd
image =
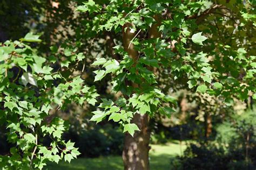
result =
M66 139L76 141L82 157L99 157L100 155L121 155L123 151L123 132L111 124L97 125L95 129L82 130L79 134L70 130Z

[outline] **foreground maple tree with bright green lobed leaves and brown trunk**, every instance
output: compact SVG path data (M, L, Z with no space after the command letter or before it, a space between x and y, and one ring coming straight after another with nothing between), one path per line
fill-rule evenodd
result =
M1 156L0 164L42 169L46 161L76 158L74 143L62 140L67 127L49 112L86 101L98 108L91 121L107 118L126 132L125 169L149 169L149 119L156 114L170 116L177 107L177 99L159 86L168 83L161 80L163 74L169 75L173 86L185 82L194 93L218 96L228 105L234 98L256 98L255 5L233 0L89 0L78 5L76 11L85 15L83 38L90 42L107 32L115 40L111 55L95 58L90 66L95 82L111 76L112 92L122 93L115 101L98 100L97 87L86 86L80 76L64 75L71 65L86 59L87 53L78 52L79 44L64 44L62 54L51 46L51 57L44 58L29 46L41 41L35 34L4 42L0 111L10 131L8 140L17 147L11 148L11 155ZM40 143L44 136L52 138L49 148Z

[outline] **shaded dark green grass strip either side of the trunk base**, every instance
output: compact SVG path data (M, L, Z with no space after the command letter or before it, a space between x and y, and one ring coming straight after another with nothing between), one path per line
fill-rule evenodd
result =
M150 155L150 169L169 170L171 169L171 159L175 159L174 155L159 154ZM100 157L100 158L79 158L68 162L60 161L59 164L49 164L44 169L88 169L88 170L123 170L123 160L120 156Z

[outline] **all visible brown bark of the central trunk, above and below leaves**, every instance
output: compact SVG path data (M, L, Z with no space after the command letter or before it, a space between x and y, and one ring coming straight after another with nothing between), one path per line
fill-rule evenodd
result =
M136 65L139 53L133 48L134 45L131 43L136 34L131 33L130 26L132 26L130 23L123 26L123 44L125 51L133 59L134 65ZM132 86L139 88L136 83L132 83ZM135 123L140 131L136 131L133 137L129 133L125 134L123 150L124 169L149 169L149 117L146 114L135 114L131 122Z

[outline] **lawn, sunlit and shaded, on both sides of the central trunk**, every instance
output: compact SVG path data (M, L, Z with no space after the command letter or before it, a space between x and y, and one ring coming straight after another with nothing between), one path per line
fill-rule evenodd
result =
M166 170L171 168L171 159L180 155L186 148L185 142L179 145L179 141L171 141L163 145L150 145L150 168L152 170ZM79 158L68 162L61 161L59 164L51 164L46 169L92 169L92 170L122 170L123 160L120 156L109 156L100 158Z

